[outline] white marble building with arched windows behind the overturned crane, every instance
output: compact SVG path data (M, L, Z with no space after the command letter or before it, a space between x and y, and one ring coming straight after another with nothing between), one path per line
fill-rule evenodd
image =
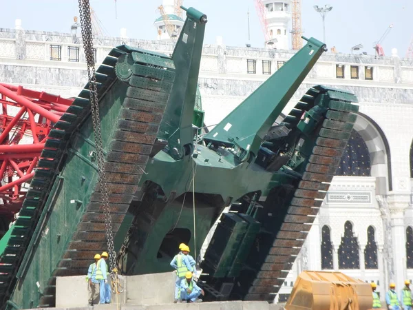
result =
M87 82L80 43L81 39L72 34L0 29L0 82L76 96ZM168 41L99 37L94 41L98 63L112 47L122 43L165 54L173 49L173 43ZM293 54L293 51L237 48L222 43L204 45L198 83L206 112L205 123L218 123ZM320 270L322 265L377 282L382 293L391 281L401 288L405 279L413 279L413 249L410 249L413 234L409 228L413 227L410 150L413 61L399 58L395 50L392 56L383 59L327 52L308 74L284 114L308 87L317 84L350 90L358 96L360 115L355 125L358 134L354 135L356 142L348 151L350 159L341 167L341 174L346 175L333 179L279 298L286 298L300 271ZM354 168L354 172L346 168L347 165ZM343 269L349 267L343 255L339 260L339 252L346 251L345 247L340 247L346 222L349 238L344 240L344 245L350 245L346 255L351 256L350 261L357 262L358 254L359 264L350 263L350 268L356 269ZM349 225L353 236L348 234ZM377 251L374 251L374 244ZM407 244L410 245L409 254ZM366 249L372 257L366 261L367 267Z

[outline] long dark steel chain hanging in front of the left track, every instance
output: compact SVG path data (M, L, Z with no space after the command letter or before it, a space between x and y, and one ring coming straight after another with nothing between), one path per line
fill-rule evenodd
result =
M117 280L118 273L116 268L116 252L114 248L114 234L112 231L112 220L110 218L109 208L109 193L107 192L107 182L105 174L105 157L103 155L102 132L100 128L100 116L98 105L98 90L96 83L95 72L95 56L93 48L93 33L92 33L92 19L90 16L89 0L78 0L79 15L81 19L81 30L83 48L85 49L85 56L87 62L87 76L89 80L90 105L92 110L92 121L94 127L95 144L96 144L96 158L98 160L98 175L100 183L100 192L103 200L103 213L105 216L105 232L107 239L107 251L109 252L109 266L111 270L112 282Z

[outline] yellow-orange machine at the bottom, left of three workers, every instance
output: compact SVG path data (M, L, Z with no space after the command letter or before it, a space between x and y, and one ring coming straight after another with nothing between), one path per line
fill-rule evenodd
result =
M341 272L304 271L288 298L286 310L372 309L370 284Z

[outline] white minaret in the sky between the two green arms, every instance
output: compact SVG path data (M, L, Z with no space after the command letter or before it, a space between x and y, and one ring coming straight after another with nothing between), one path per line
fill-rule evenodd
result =
M288 38L290 37L291 1L262 0L262 4L264 5L269 37L266 46L273 46L277 50L290 50Z

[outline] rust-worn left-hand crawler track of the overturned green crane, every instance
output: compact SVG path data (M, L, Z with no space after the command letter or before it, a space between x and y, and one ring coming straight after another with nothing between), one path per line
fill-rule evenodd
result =
M120 56L134 54L131 79L127 79L127 98L121 107L114 135L105 158L107 185L114 234L118 231L133 195L138 191L140 176L145 171L160 121L169 99L175 77L173 61L158 54L132 50L126 45L109 52L96 70L98 97L102 98L118 80L116 63ZM162 66L160 66L162 64ZM125 81L120 79L121 81ZM158 83L159 82L159 83ZM34 242L32 236L42 229L41 214L57 176L65 165L65 152L72 134L85 118L90 117L89 83L54 125L46 141L42 158L23 208L12 231L12 238L0 258L0 304L6 304L16 285L25 251ZM64 121L63 121L64 120ZM65 253L50 275L48 286L43 290L39 307L54 307L56 276L81 275L87 269L92 254L106 249L105 218L99 184L96 184L76 231L73 231ZM35 251L35 250L34 250ZM24 258L27 260L28 258ZM3 309L3 307L1 307Z

